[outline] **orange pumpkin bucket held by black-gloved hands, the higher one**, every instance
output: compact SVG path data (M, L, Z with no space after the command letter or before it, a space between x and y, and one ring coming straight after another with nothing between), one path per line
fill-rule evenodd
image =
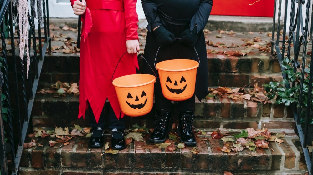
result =
M189 59L166 60L156 64L162 93L165 98L182 101L191 98L195 91L199 63Z

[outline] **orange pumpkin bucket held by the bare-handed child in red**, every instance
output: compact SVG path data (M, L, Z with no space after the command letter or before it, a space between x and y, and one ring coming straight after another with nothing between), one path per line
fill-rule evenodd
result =
M132 74L113 80L123 113L138 117L151 111L155 80L155 76L149 74Z

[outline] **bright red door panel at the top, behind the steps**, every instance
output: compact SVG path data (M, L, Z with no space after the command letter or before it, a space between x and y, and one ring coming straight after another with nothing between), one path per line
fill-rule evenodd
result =
M213 0L211 15L273 17L273 13L274 0Z

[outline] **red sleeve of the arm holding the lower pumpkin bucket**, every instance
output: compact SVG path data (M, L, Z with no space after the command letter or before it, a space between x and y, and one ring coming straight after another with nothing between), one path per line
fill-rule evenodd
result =
M136 12L136 2L137 0L124 0L126 40L138 39L138 15Z

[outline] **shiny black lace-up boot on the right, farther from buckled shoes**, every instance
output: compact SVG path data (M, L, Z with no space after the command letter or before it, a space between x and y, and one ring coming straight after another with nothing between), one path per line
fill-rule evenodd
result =
M193 111L179 112L180 141L186 145L196 144L196 138L192 131Z

